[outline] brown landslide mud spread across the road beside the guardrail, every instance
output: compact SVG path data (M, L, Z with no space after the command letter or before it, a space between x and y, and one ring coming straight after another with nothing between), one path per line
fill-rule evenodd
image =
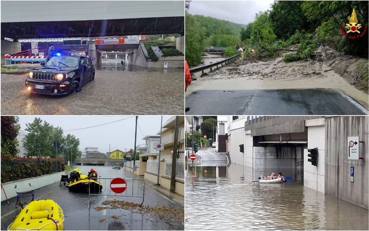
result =
M342 91L368 108L368 94L350 85L321 62L284 63L273 61L227 65L191 83L187 94L196 90L252 90L327 88Z

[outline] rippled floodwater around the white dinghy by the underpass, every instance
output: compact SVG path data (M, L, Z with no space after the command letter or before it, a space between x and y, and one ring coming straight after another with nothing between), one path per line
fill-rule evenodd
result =
M263 169L293 180L260 184L261 169L223 163L188 166L186 230L368 230L368 210L304 187L302 175Z

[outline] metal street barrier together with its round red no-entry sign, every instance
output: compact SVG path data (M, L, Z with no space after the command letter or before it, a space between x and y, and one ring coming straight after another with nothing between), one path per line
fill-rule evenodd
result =
M103 184L101 192L96 190L91 180ZM123 179L123 178L99 178L89 179L89 208L91 206L91 196L114 196L114 197L138 197L142 198L140 207L146 207L145 200L145 181L142 179Z

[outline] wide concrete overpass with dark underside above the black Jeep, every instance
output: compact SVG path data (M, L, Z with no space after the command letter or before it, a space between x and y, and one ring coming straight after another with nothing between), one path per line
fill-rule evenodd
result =
M180 34L177 44L184 48L183 2L4 1L1 3L1 55L26 50L18 45L20 39L94 38L141 34ZM5 38L13 41L5 41ZM138 42L96 45L93 39L89 40L88 44L73 46L73 49L88 49L89 56L95 58L94 64L101 62L101 51L111 47L118 51L128 49L127 52L131 55L129 63L136 62ZM50 44L54 45L53 42L49 42L45 47ZM41 45L45 48L43 44ZM3 53L3 50L6 53Z

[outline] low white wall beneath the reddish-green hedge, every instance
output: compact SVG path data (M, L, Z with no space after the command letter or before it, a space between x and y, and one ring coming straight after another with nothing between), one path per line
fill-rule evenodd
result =
M25 192L31 190L31 187L28 184L32 184L36 189L39 189L41 187L44 187L46 185L51 185L55 182L59 182L62 174L64 172L56 172L49 175L44 176L37 176L22 180L15 180L11 182L2 183L3 188L5 190L6 196L9 198L17 196L17 193L15 192L15 185L17 185L18 192ZM32 189L34 189L32 187ZM1 201L6 200L4 191L1 190Z

